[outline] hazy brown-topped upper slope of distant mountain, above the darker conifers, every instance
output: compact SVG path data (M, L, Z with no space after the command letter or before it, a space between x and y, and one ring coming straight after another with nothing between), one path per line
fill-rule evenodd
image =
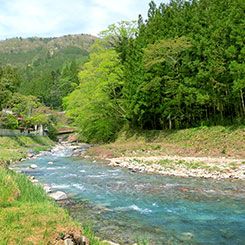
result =
M0 41L0 65L24 67L54 63L54 68L58 68L63 61L88 56L95 39L95 36L87 34L6 39Z

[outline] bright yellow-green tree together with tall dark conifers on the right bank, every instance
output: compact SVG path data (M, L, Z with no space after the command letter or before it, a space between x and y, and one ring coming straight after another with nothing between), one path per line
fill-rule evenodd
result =
M173 0L148 18L102 33L65 99L86 141L122 127L180 129L243 124L243 0Z

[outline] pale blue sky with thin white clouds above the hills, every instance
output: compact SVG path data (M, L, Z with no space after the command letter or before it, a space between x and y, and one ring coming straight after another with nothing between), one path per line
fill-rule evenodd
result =
M147 16L150 0L0 0L0 39L98 35L108 25ZM158 5L168 0L155 0Z

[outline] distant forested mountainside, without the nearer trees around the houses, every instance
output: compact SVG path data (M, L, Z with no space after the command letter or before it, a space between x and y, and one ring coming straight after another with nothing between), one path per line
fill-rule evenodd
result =
M77 85L77 69L88 58L91 35L13 38L0 41L0 66L12 66L21 80L17 91L47 106L61 108Z

